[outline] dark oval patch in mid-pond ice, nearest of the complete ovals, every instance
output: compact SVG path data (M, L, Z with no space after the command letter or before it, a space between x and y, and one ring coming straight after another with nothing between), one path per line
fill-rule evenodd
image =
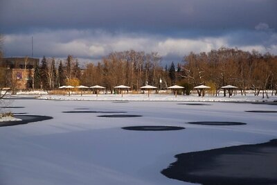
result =
M124 130L136 130L136 131L170 131L170 130L183 130L185 127L175 126L134 126L134 127L122 127Z

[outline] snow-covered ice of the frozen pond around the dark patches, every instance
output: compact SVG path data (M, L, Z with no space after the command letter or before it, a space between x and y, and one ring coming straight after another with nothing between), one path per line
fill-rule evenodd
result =
M53 116L53 119L0 127L0 184L190 184L168 179L160 171L176 161L174 156L179 153L263 143L277 138L276 113L244 112L276 111L276 105L209 102L205 103L209 105L192 106L170 101L209 100L212 98L209 96L42 96L46 97L75 101L12 100L12 106L24 107L10 109L12 112ZM234 100L237 97L242 96L234 96ZM154 98L167 101L143 101ZM255 98L247 96L249 101L256 101ZM260 101L274 100L273 97L259 98ZM136 101L114 103L109 100ZM98 116L104 113L62 113L74 109L120 111L142 117L102 118ZM191 121L236 121L247 125L187 123ZM137 125L172 125L186 129L161 132L121 129Z

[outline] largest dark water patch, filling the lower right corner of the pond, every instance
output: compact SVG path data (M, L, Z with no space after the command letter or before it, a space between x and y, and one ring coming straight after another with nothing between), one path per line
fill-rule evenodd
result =
M232 146L175 155L161 173L196 184L277 184L277 139L256 145Z

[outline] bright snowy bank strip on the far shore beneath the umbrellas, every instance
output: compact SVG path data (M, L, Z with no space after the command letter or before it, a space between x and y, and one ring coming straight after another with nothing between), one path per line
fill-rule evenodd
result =
M121 97L120 94L100 94L96 96L95 94L90 95L42 95L38 98L46 99L46 100L130 100L130 101L215 101L215 102L238 102L238 101L246 101L246 102L273 102L277 101L277 96L269 96L269 98L262 98L260 96L254 96L253 94L247 94L247 96L204 96L199 97L197 94L193 94L190 96L177 96L175 97L172 94L150 94L148 97L147 94L123 94Z

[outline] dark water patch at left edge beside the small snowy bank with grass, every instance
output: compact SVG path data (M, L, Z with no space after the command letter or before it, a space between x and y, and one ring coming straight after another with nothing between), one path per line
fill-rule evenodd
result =
M51 117L51 116L39 116L39 115L15 115L15 118L20 118L21 121L0 122L0 127L13 126L13 125L23 125L23 124L27 124L27 123L52 119L53 117Z

